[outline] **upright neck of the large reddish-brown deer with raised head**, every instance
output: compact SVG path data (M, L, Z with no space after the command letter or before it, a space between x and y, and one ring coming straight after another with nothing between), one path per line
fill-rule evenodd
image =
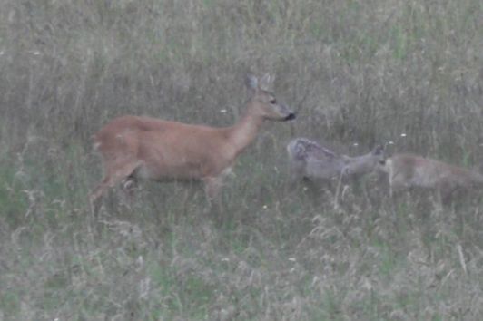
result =
M238 155L242 152L257 136L260 130L263 117L249 108L240 122L229 128L229 140Z

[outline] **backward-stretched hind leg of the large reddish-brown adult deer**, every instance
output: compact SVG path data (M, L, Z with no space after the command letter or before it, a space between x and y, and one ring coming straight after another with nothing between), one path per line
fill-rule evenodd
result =
M96 210L94 203L96 200L99 199L106 190L119 184L123 180L129 180L129 177L133 174L133 171L136 170L140 165L141 161L124 161L122 164L116 164L112 170L108 170L104 176L104 180L97 185L89 198L91 209L93 209L95 212Z

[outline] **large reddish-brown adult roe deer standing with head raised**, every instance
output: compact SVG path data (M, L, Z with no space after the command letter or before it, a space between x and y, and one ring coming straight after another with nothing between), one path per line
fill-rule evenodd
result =
M123 180L202 180L213 199L234 160L253 141L265 120L290 121L295 113L275 100L267 86L250 76L251 99L245 115L231 127L169 122L151 117L123 116L94 135L94 148L104 160L104 180L91 194L91 204Z

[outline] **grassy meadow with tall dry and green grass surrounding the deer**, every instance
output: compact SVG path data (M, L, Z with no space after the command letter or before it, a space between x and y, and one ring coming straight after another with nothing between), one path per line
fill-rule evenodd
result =
M285 146L377 143L483 170L483 4L2 0L0 320L483 319L480 199L441 209L290 188ZM247 73L266 123L207 212L196 184L115 191L91 136L126 113L229 125ZM225 112L226 111L226 112Z

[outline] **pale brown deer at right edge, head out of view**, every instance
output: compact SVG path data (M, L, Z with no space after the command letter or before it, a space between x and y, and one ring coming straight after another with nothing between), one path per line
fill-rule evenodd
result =
M483 175L439 160L411 154L395 154L386 160L382 170L389 175L389 195L422 188L436 190L443 202L457 190L473 190L483 186Z

